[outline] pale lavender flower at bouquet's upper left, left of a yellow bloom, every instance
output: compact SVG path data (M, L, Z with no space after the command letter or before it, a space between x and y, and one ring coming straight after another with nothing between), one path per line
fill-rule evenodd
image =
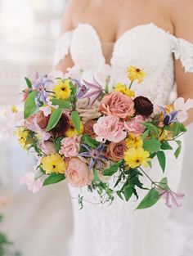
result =
M32 88L34 91L37 91L37 95L35 97L35 101L37 106L43 106L43 103L47 103L47 91L46 87L53 83L51 79L47 79L47 75L38 76L37 79L32 84Z

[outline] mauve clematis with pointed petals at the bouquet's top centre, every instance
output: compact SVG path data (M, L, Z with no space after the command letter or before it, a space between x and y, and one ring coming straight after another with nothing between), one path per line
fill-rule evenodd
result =
M90 83L83 79L83 85L80 88L79 91L79 98L91 98L91 106L95 103L95 101L101 96L103 92L103 88L101 87L101 84L96 81L96 79L93 77L93 82ZM89 91L89 92L88 92ZM81 92L81 93L80 93Z

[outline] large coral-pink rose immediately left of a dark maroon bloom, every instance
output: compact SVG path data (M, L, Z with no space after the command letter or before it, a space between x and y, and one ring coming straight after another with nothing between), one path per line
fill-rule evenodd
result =
M122 92L110 92L105 95L99 110L105 115L115 115L120 119L125 119L135 112L132 99Z

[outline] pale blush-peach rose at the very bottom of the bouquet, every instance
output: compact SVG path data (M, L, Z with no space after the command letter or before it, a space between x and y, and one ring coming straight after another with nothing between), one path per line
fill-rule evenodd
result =
M69 161L65 176L71 186L81 187L89 183L90 171L88 165L79 158L72 158Z

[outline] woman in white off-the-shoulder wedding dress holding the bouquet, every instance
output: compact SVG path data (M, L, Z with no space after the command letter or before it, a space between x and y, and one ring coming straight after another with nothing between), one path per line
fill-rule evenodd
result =
M71 0L56 48L56 68L65 72L77 65L83 70L102 70L109 64L114 81L126 83L125 70L135 65L146 70L148 76L140 87L155 104L171 103L175 83L178 97L193 98L191 10L191 0ZM186 124L193 119L193 112L189 114ZM164 175L177 191L182 158L176 161L168 153L167 159ZM162 177L157 163L148 173L156 180ZM75 197L79 191L70 187L70 193ZM92 200L87 191L83 195ZM110 206L85 204L81 211L73 204L70 256L187 255L170 248L170 209L161 200L152 209L137 211L134 198L128 203L115 200Z

